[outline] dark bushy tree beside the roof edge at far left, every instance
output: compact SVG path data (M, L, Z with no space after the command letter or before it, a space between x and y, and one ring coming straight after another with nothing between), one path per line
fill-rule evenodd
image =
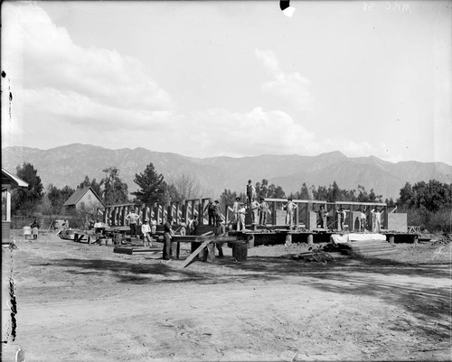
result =
M28 183L28 187L21 187L14 190L12 193L11 209L13 212L20 210L25 215L30 215L43 196L41 177L38 176L38 172L34 169L33 164L28 162L24 162L22 166L17 166L16 174Z

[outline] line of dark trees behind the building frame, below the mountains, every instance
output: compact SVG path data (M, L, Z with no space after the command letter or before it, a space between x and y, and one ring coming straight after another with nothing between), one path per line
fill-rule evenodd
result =
M97 181L95 178L84 180L72 189L64 186L59 189L49 184L44 190L41 178L33 164L24 162L16 168L16 174L22 180L28 182L28 188L18 188L12 193L13 214L32 215L34 212L42 214L64 213L62 205L71 197L71 194L84 187L90 186L106 205L139 202L155 203L168 200L184 201L212 197L212 191L202 190L202 184L193 176L181 174L171 181L165 181L164 175L156 172L152 162L147 164L143 172L136 173L134 182L137 191L130 192L129 197L127 183L122 181L117 167L103 169L104 177ZM351 202L386 202L388 206L397 206L400 211L409 215L410 225L421 225L424 227L450 227L452 209L452 184L441 183L436 180L428 182L419 181L411 186L407 182L400 189L397 200L385 199L373 189L366 190L364 186L358 185L356 189L341 189L336 181L326 186L314 185L308 187L304 182L300 190L286 194L281 186L269 183L268 180L255 183L258 200L260 198L271 199L297 199L297 200L326 200L327 202L351 201ZM218 198L223 206L231 205L239 197L245 200L245 192L237 190L223 190Z

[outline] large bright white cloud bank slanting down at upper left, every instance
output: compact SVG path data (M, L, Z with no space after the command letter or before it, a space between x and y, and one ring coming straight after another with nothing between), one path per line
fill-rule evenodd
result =
M5 3L2 27L2 67L24 88L59 89L67 97L79 94L105 107L173 108L171 97L139 60L75 44L38 5Z

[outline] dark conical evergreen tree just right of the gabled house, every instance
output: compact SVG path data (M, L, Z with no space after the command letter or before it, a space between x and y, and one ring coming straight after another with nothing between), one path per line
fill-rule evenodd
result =
M134 182L139 186L139 190L132 192L137 199L144 203L163 202L166 198L167 184L164 176L155 171L151 162L146 166L146 170L135 174Z

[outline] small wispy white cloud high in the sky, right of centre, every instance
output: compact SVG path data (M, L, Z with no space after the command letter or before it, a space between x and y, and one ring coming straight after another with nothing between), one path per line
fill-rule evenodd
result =
M274 94L298 111L313 107L314 97L309 88L311 81L298 72L285 73L279 68L277 56L273 51L255 51L256 57L272 77L262 84L261 89Z

